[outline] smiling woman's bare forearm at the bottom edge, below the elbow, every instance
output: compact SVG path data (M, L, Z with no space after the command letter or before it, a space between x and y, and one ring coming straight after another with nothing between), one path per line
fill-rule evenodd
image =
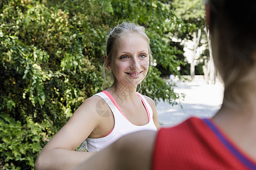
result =
M95 152L78 152L62 148L42 151L36 160L35 169L71 169L93 154Z

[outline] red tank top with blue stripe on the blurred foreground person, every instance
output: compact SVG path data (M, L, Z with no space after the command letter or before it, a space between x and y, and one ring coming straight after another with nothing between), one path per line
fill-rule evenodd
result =
M209 119L191 117L173 128L158 131L153 170L256 169Z

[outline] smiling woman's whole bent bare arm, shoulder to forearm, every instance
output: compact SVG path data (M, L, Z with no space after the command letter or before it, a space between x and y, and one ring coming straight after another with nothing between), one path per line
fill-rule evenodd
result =
M35 169L70 169L93 155L94 152L74 150L94 131L99 120L100 116L95 113L95 100L87 99L43 148Z

